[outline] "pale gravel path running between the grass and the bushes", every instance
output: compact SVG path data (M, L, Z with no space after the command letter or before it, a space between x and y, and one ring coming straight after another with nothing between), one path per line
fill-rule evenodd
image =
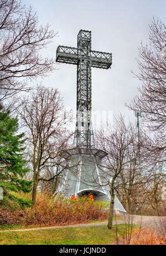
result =
M113 224L115 224L115 220ZM117 224L123 223L133 223L137 225L141 225L142 227L148 227L152 229L158 229L160 224L163 224L163 228L166 227L166 217L158 217L158 216L140 216L140 215L125 215L122 216L122 220L118 220ZM36 231L36 230L46 230L46 229L59 229L59 228L80 228L80 227L90 227L90 226L100 226L106 225L107 222L98 222L98 223L87 223L87 224L76 224L76 225L65 225L65 226L49 226L49 227L38 227L38 228L25 228L25 229L12 229L12 230L0 230L1 232L26 232L26 231Z

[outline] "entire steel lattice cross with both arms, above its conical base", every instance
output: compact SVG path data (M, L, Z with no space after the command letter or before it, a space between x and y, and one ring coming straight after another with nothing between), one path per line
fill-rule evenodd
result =
M77 48L58 46L56 62L77 65L77 122L74 146L81 148L95 147L91 126L91 67L110 68L112 54L92 51L91 31L81 29L77 35Z

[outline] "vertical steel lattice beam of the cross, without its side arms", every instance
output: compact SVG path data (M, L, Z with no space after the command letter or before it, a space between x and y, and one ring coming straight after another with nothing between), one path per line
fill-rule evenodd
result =
M91 32L80 30L77 35L79 62L77 64L77 123L74 146L93 147L91 128Z

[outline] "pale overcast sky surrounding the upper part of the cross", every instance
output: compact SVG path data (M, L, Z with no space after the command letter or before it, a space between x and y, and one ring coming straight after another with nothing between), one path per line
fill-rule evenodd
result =
M134 120L125 107L138 93L141 83L133 78L141 41L148 42L148 24L153 16L165 18L164 0L23 0L37 11L40 23L58 32L45 56L55 56L58 45L76 47L80 29L92 31L92 50L112 53L108 70L92 68L92 109L122 112ZM76 109L76 66L58 64L57 71L44 78L43 85L57 87L66 107Z

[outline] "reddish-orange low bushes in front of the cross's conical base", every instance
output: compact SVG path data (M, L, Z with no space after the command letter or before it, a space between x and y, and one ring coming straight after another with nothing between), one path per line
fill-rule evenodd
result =
M104 220L108 211L99 201L81 198L77 201L48 195L38 195L34 208L22 210L1 210L0 225L65 225L86 223L90 220Z

